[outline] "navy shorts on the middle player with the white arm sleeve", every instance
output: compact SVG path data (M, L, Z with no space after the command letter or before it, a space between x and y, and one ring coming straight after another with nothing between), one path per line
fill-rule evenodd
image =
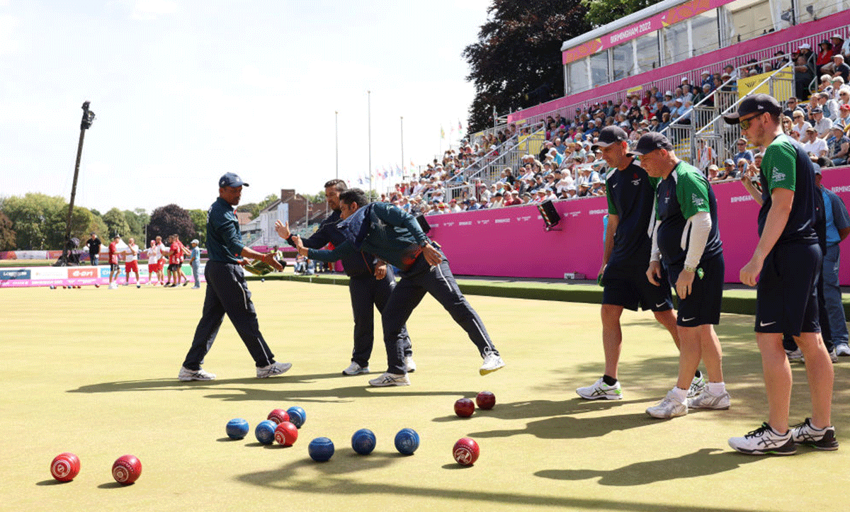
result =
M667 269L667 275L670 276L670 286L674 289L682 270L682 265L672 265ZM691 285L691 293L684 299L678 299L677 326L697 327L720 323L720 304L723 302L723 276L725 271L723 253L717 254L714 258L697 266L694 283Z

